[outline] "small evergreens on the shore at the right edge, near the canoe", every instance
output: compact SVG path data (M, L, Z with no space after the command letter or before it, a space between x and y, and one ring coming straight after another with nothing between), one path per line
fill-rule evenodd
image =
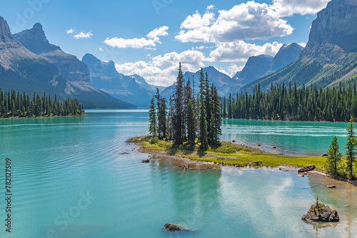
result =
M353 180L356 176L356 150L357 140L353 131L353 118L347 127L347 141L346 141L346 157L343 158L340 152L336 136L333 138L330 147L328 148L328 157L326 160L326 170L333 175L340 175Z

